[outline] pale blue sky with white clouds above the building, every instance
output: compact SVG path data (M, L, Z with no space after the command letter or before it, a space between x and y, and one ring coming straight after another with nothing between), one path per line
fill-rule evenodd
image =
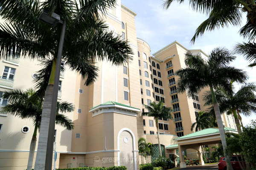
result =
M230 26L228 28L206 31L202 37L192 39L196 28L207 19L207 16L192 10L188 0L182 4L172 3L169 9L163 9L163 0L121 0L121 3L137 13L135 25L137 37L148 42L151 48L151 55L161 48L169 45L175 40L188 49L201 49L207 54L213 48L225 47L233 50L237 42L243 42L239 35L239 29L246 23L246 15L241 26ZM247 71L249 79L247 82L256 82L256 67L248 68L248 62L242 56L231 64L236 68ZM241 85L236 84L236 90ZM243 124L248 125L250 121L256 120L256 114L250 117L242 116Z

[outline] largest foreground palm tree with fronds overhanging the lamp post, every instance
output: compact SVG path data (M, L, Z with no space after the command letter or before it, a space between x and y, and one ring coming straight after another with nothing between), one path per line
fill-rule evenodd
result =
M44 169L52 107L52 93L58 54L61 26L50 27L38 20L42 9L55 12L66 21L62 60L71 70L79 72L85 85L98 76L94 62L104 59L121 65L131 59L132 49L121 36L106 31L108 26L101 19L116 4L116 0L1 0L0 57L10 57L11 49L30 59L50 58L53 61L50 78L44 96L41 133L38 140L36 169ZM16 50L15 50L16 49ZM15 52L17 51L17 52ZM59 73L56 73L57 75ZM59 78L58 78L59 79ZM57 98L54 99L57 101ZM54 110L52 110L54 112Z

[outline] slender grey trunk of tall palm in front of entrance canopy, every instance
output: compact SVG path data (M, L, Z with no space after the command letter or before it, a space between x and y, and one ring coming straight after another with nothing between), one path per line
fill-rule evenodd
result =
M212 85L210 85L210 90L211 90L211 94L212 94L212 102L213 102L214 112L215 112L215 116L216 116L216 120L217 120L217 124L218 124L218 129L219 129L219 133L221 136L221 143L222 143L225 158L226 158L227 170L233 170L233 167L232 167L232 164L230 161L231 157L229 155L226 155L226 147L227 147L226 135L225 135L222 119L221 119L220 108L218 107L218 103L217 103Z

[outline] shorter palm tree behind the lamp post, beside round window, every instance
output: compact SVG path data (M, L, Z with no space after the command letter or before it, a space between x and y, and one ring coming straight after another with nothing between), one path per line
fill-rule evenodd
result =
M43 97L34 96L35 91L30 88L26 91L13 90L6 91L3 94L4 99L8 99L11 104L8 104L1 108L1 112L9 113L14 116L18 116L21 119L32 119L34 123L34 133L30 143L29 149L29 161L27 165L27 170L32 169L35 145L37 140L37 131L40 130L41 118L42 118L42 108L43 108ZM56 124L66 127L67 130L73 129L72 120L68 119L67 116L61 114L61 112L71 112L74 110L74 106L68 102L58 102L56 111Z

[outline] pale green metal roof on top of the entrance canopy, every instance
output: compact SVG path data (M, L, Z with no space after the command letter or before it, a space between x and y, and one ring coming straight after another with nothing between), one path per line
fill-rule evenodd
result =
M237 132L236 129L233 129L233 128L230 128L230 127L224 127L224 130L225 131ZM200 131L197 131L197 132L194 132L194 133L190 133L190 134L185 135L185 136L181 136L179 138L175 138L174 140L184 139L184 138L189 138L189 137L195 137L195 136L202 136L202 135L207 135L207 134L212 134L212 133L219 133L219 130L217 128L207 128L207 129L200 130Z

